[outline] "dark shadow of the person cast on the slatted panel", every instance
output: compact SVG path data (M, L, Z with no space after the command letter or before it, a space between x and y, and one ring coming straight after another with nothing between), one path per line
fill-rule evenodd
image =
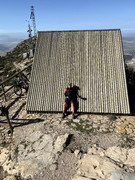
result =
M75 113L77 113L77 110L79 109L79 101L78 101L78 98L80 98L81 100L83 101L86 101L87 98L85 97L82 97L79 95L79 91L80 91L80 88L76 85L73 86L73 88L75 89L74 91L74 95L73 95L73 99L74 99L74 108L75 108ZM71 104L68 104L67 108L66 108L66 111L71 107ZM69 115L70 113L67 113L67 115ZM77 115L78 116L78 115ZM77 117L76 116L76 117Z

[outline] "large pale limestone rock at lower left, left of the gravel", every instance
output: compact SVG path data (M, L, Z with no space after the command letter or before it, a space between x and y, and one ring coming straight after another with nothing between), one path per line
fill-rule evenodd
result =
M55 133L44 134L39 129L31 133L25 131L20 143L17 141L11 152L11 160L7 160L3 165L4 170L9 174L20 173L23 178L33 178L46 167L54 171L69 134L60 135L57 138L55 136ZM6 150L3 150L1 160L7 157L6 154Z

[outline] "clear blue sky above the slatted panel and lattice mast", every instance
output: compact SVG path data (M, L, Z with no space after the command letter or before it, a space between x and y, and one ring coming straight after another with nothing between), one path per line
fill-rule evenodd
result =
M135 30L135 0L0 0L0 33L27 35L30 6L37 30Z

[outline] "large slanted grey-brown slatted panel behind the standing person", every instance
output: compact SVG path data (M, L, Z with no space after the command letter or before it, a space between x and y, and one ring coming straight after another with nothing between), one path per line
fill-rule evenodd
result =
M62 111L68 82L79 112L130 113L119 29L38 32L27 111Z

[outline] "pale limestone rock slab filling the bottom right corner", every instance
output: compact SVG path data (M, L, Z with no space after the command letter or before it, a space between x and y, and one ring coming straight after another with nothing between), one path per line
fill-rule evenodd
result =
M78 171L72 180L135 180L135 149L92 147L78 160ZM126 171L124 168L126 166ZM132 169L132 173L130 170Z

